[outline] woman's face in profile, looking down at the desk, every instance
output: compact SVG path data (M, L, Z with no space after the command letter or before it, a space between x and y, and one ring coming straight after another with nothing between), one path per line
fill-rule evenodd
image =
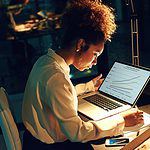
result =
M87 51L80 50L76 52L76 56L73 65L80 71L92 68L93 65L97 64L97 58L103 52L104 43L91 44Z

